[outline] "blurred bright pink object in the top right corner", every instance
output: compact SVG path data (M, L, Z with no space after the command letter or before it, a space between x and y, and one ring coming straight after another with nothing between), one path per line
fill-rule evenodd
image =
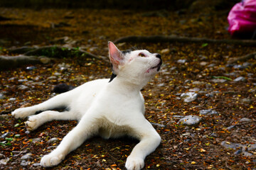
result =
M228 14L231 35L253 33L256 30L256 0L243 0L235 4Z

